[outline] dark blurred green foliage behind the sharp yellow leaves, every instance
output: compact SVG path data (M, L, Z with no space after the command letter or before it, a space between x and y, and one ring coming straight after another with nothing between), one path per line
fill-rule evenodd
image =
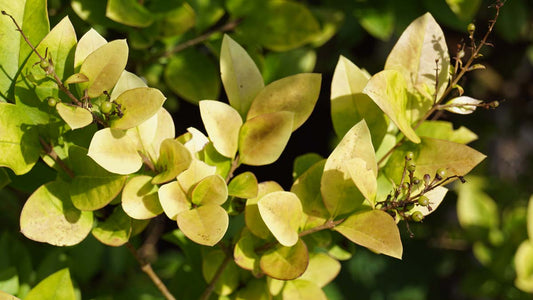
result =
M338 138L329 89L339 55L373 74L383 68L405 27L429 11L454 56L457 45L467 41L467 24L476 25L476 36L485 33L494 13L491 3L48 0L48 8L51 27L68 15L78 36L93 27L108 40L126 38L127 69L168 97L165 105L178 133L202 128L199 100L225 100L217 63L223 33L245 46L266 83L301 72L322 73L321 96L310 120L295 132L278 162L253 169L259 180L276 180L288 189L294 159L308 152L327 156ZM353 257L325 288L330 299L531 299L514 286L513 258L527 239L526 207L533 193L533 2L508 0L490 42L494 46L480 61L487 69L470 73L461 84L466 94L498 100L500 107L442 116L477 133L472 147L488 158L467 184L449 193L439 213L411 225L414 238L400 224L402 261L352 248ZM37 175L11 176L11 184L0 190L0 290L29 290L69 267L84 299L161 299L124 247L105 247L90 237L74 247L56 248L18 234L21 199L52 176L47 167L36 168L40 172L32 174ZM35 187L28 189L27 182ZM201 268L201 248L166 225L157 251L148 249L157 256L154 269L180 299L192 299L206 286L191 272Z

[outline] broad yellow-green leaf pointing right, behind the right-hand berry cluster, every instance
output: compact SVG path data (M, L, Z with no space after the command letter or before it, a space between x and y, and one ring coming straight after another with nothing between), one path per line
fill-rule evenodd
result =
M464 176L486 157L466 145L445 140L423 138L420 144L407 142L394 151L384 169L394 182L401 180L408 151L414 153L414 175L418 178L423 178L424 174L433 177L440 168L446 169L450 176Z

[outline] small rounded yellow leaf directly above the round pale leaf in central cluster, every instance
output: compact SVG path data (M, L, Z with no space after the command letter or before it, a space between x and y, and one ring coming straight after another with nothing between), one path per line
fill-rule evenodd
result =
M191 192L194 205L222 205L228 199L228 186L220 175L210 175L198 182Z

